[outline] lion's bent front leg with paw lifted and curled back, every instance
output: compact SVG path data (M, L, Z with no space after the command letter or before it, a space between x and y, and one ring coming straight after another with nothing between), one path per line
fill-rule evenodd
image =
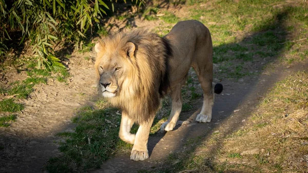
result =
M119 131L119 137L129 143L134 144L136 135L130 133L131 126L133 125L133 121L131 121L126 112L122 112L122 118L121 118L121 124L120 124L120 131Z

